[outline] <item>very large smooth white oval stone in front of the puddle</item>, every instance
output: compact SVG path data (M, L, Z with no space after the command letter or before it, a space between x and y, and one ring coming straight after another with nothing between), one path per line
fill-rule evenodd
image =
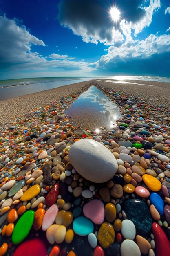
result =
M92 139L76 141L70 148L69 161L75 170L95 183L107 182L117 172L117 161L108 148Z

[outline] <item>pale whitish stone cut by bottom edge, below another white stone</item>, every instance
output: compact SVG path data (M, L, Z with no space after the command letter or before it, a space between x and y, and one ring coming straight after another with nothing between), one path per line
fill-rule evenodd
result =
M125 239L120 246L121 256L141 256L138 245L130 239Z

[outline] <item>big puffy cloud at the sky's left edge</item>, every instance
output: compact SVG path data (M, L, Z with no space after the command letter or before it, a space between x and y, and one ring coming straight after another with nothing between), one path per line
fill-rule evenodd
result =
M44 42L31 35L24 25L19 26L17 20L10 20L6 16L0 16L0 35L1 68L13 63L27 62L30 57L38 57L37 53L32 55L31 45L45 46Z

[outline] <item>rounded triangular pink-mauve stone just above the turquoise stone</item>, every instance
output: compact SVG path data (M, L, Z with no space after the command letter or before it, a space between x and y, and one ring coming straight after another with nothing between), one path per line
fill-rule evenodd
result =
M83 213L95 224L102 224L104 221L104 203L101 200L93 199L84 204Z

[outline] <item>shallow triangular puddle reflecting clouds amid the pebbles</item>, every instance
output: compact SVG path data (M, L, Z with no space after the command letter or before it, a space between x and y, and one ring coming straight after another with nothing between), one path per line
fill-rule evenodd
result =
M83 92L64 113L74 127L96 132L103 127L114 128L116 120L121 118L117 105L95 86Z

